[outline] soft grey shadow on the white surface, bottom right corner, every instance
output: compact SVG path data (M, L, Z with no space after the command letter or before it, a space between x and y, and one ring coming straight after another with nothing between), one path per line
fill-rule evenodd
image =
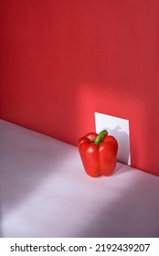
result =
M95 218L86 224L78 237L93 238L158 238L158 180L151 175L132 177L130 187L123 187L120 197L101 204Z

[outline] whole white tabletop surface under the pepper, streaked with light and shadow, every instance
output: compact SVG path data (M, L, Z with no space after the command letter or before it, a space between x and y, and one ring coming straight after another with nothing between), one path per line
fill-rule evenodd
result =
M77 147L0 120L1 236L158 237L159 178L91 178Z

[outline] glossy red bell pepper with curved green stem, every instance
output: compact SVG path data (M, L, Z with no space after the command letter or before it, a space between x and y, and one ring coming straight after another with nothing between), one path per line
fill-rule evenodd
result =
M89 176L112 175L117 163L118 143L106 130L99 134L87 133L78 141L78 148Z

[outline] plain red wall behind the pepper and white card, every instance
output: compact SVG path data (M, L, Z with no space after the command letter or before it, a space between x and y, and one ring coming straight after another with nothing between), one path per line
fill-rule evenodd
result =
M159 175L159 1L1 5L1 118L70 144L94 112L126 118L132 166Z

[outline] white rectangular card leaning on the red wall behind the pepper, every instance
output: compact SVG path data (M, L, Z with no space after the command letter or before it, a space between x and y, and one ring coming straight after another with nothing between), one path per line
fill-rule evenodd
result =
M96 133L106 129L118 141L117 160L125 165L131 165L129 120L95 112Z

